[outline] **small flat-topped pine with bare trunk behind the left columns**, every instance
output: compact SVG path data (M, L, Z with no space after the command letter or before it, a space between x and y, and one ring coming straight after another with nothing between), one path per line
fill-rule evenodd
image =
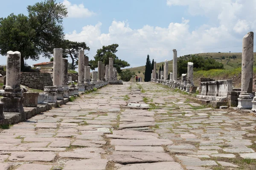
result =
M85 42L73 42L69 40L65 40L63 43L63 55L64 57L70 57L72 59L72 62L70 63L70 70L75 70L78 65L78 52L79 50L88 50L90 51L90 48L86 45Z

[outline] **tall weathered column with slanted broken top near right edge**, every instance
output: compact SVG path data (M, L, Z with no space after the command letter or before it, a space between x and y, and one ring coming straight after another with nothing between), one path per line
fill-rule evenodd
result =
M239 109L256 111L256 98L253 98L253 32L243 37L241 93L238 97ZM253 101L252 101L253 100Z

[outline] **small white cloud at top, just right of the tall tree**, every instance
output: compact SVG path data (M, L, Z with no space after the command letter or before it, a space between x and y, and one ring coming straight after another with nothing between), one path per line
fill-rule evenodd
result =
M64 0L63 4L67 7L68 17L70 18L84 18L91 17L95 15L93 11L90 11L87 8L84 8L84 5L81 3L79 5L72 4L68 0Z

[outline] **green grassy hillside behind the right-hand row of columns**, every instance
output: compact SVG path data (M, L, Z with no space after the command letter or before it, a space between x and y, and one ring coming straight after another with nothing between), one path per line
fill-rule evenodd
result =
M194 83L198 85L198 80L200 77L207 77L216 80L220 79L233 79L233 85L235 87L241 87L241 53L199 53L199 54L189 54L185 56L178 57L178 59L189 59L192 55L200 56L205 59L212 58L217 62L221 62L224 65L224 69L212 69L208 71L194 71ZM256 53L253 54L253 72L256 74ZM145 58L146 59L146 58ZM157 70L162 67L164 62L157 62ZM128 68L130 71L134 71L137 76L143 77L143 72L145 72L145 65L140 67ZM138 73L140 71L140 74ZM172 72L172 60L168 62L168 72ZM254 77L256 78L256 77Z

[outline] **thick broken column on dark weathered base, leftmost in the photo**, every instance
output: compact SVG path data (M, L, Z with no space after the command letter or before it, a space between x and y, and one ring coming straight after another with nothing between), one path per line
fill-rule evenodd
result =
M23 109L23 93L20 88L20 52L8 51L6 64L6 87L3 97L3 112L21 113ZM3 118L3 115L0 115Z

